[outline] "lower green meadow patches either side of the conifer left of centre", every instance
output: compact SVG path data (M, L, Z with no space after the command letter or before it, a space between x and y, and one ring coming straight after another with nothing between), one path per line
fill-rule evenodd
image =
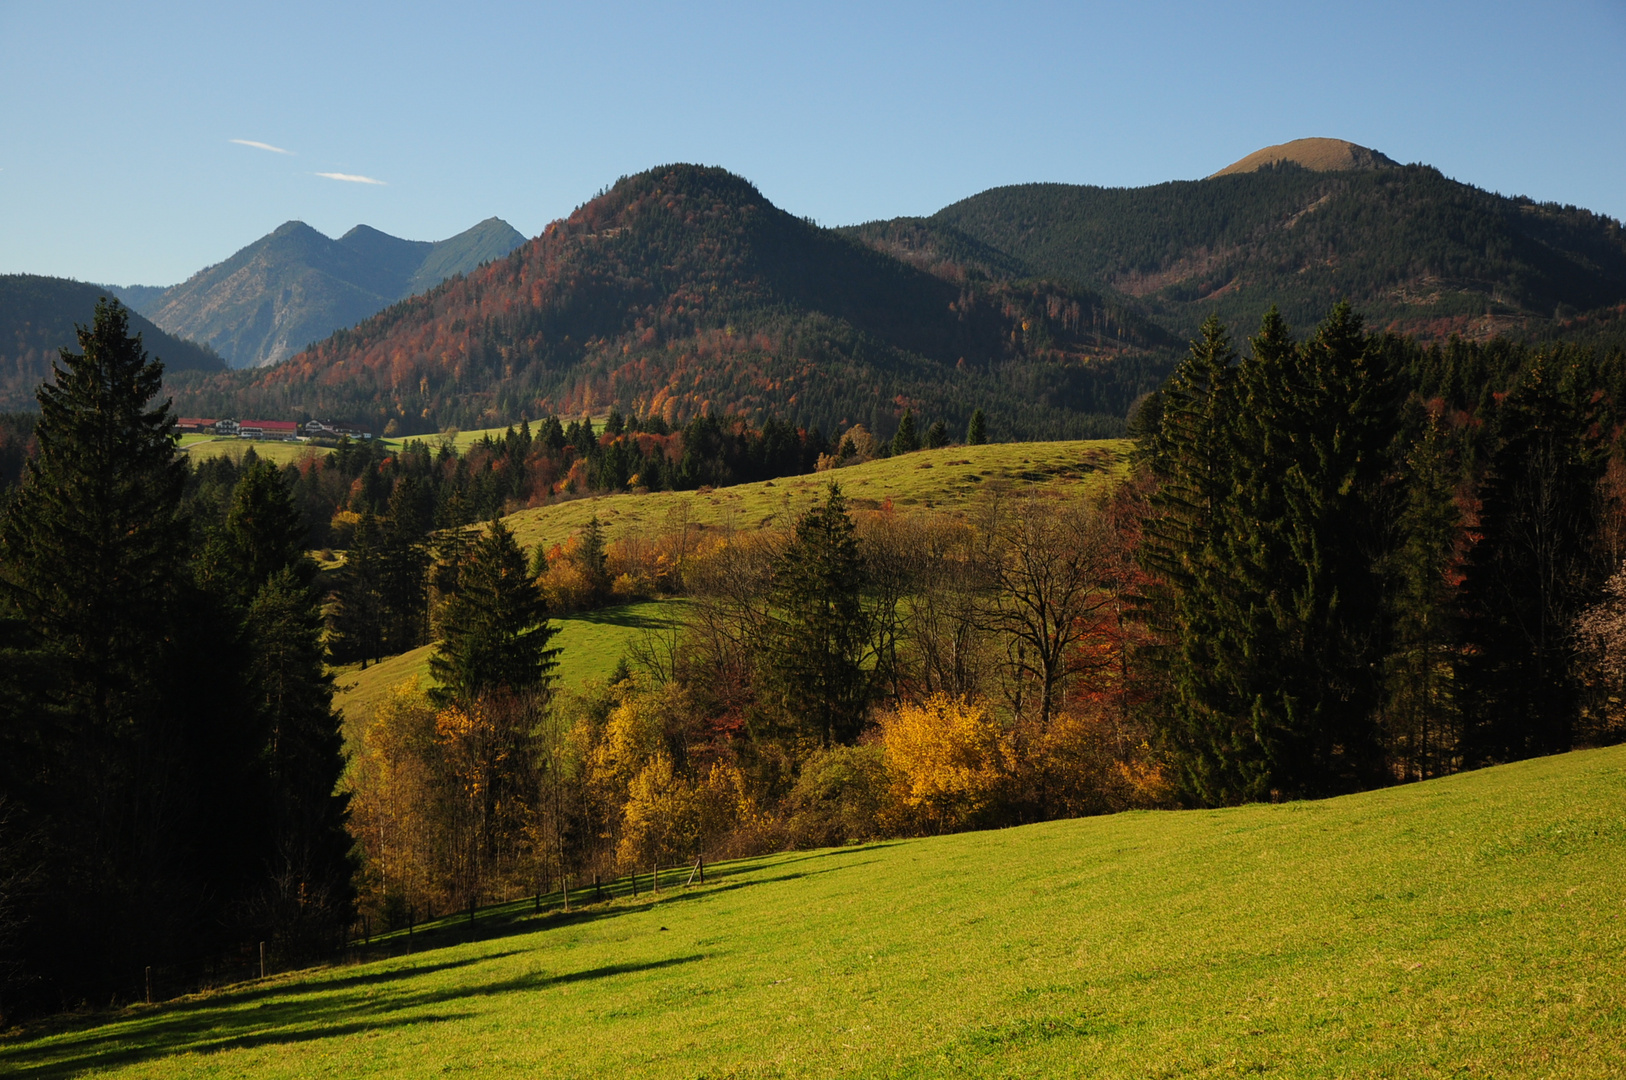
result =
M556 685L571 690L589 678L608 678L646 629L672 625L680 603L681 600L646 600L554 618L559 626L553 639L559 649ZM431 652L434 646L423 646L369 664L366 670L359 664L337 668L333 706L345 714L346 727L364 724L372 716L372 708L400 683L418 678L428 686Z

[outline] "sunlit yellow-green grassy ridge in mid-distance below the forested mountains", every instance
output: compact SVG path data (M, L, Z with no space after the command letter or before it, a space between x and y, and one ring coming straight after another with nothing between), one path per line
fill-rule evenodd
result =
M917 451L824 473L741 483L712 491L652 491L602 494L517 511L506 520L527 548L538 542L563 543L593 514L611 540L626 535L659 535L683 522L701 529L764 529L792 522L839 483L852 506L893 506L938 512L964 512L979 491L1016 488L1098 488L1127 470L1127 439L1073 442L1002 442L948 446Z

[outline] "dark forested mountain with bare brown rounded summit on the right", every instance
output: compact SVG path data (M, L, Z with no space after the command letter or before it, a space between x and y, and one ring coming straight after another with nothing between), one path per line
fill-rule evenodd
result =
M1541 333L1626 299L1619 221L1393 166L1337 140L1272 146L1205 181L997 187L849 234L883 250L914 237L985 272L1130 298L1182 338L1208 312L1252 322L1278 304L1307 325L1340 298L1374 325L1480 338Z

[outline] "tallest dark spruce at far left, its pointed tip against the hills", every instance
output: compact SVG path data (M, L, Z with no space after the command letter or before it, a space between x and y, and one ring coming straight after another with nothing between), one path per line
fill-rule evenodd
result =
M185 472L169 407L153 407L163 366L117 303L96 306L78 345L39 389L39 452L0 525L11 677L28 672L37 695L13 704L44 721L24 792L47 865L23 950L34 986L63 997L218 940L242 864L210 860L211 831L241 810L213 800L215 781L241 789L250 764L229 690L184 701L233 657L229 631L187 649L192 616L216 620L189 581Z

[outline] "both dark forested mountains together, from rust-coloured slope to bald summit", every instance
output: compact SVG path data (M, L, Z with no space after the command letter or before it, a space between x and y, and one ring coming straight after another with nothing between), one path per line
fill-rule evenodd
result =
M1610 343L1626 236L1341 140L837 229L675 164L283 364L176 389L398 433L618 405L881 434L906 408L958 426L980 407L1002 438L1109 434L1210 312L1246 333L1275 304L1307 327L1343 298L1421 337Z

